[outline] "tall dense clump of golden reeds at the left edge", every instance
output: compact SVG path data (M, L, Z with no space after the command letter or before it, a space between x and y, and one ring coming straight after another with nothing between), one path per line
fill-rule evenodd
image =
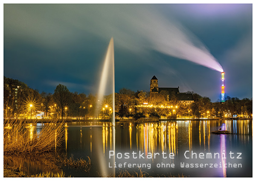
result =
M44 123L41 130L37 132L37 120L10 119L5 120L3 129L3 151L4 154L37 155L46 151L51 151L60 146L64 137L64 121L57 119L50 123Z

